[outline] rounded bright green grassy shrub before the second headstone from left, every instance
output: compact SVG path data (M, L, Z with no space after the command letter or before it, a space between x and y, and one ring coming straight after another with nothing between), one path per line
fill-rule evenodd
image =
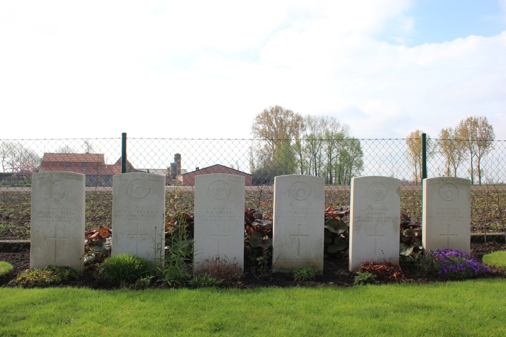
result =
M99 267L99 281L111 286L132 286L141 278L151 276L151 262L139 256L116 254Z

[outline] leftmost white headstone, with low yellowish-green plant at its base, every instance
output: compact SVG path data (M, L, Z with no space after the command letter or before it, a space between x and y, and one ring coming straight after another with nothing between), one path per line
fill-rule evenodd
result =
M39 172L32 177L30 267L68 266L83 271L85 175Z

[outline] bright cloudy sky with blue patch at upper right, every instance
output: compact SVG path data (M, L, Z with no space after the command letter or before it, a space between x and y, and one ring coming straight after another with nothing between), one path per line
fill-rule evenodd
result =
M505 140L506 0L0 3L0 139L250 138L274 105Z

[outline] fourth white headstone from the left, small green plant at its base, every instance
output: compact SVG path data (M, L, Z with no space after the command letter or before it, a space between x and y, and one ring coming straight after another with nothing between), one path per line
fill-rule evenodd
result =
M301 265L323 273L324 212L324 178L274 178L272 271L287 273Z

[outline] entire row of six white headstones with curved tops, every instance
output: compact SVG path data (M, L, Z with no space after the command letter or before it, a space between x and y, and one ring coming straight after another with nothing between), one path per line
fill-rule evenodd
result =
M151 173L114 176L112 254L156 261L164 247L165 179ZM219 258L244 268L244 177L195 177L194 263ZM399 263L400 180L352 179L349 269L363 262ZM320 177L284 175L274 180L273 271L298 265L323 272L325 183ZM435 177L423 183L423 248L470 252L471 183ZM85 175L40 172L32 179L30 266L83 270ZM159 254L159 252L158 252Z

